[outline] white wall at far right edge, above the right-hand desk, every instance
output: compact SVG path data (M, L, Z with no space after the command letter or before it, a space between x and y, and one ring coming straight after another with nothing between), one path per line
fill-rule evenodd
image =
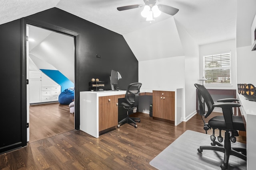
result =
M237 84L246 83L256 86L256 51L252 48L251 26L256 14L256 0L237 1L236 59Z

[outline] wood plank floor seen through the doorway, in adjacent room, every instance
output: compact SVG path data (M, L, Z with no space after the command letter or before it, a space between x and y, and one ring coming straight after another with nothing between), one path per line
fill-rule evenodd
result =
M74 129L74 114L68 105L30 105L29 118L30 143Z

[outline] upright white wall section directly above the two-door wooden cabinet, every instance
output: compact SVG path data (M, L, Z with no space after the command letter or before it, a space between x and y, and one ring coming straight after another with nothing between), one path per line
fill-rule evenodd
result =
M139 61L139 82L143 89L174 90L184 88L184 56Z

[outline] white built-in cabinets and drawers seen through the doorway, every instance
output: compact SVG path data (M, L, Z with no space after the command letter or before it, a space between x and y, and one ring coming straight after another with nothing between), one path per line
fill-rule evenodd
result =
M30 104L58 101L60 85L40 71L29 72Z

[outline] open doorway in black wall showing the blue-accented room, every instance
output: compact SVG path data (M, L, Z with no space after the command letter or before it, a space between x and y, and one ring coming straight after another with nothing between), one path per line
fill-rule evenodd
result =
M76 48L74 36L37 25L27 23L26 34L27 141L33 142L74 129L74 95L62 104L58 96L74 91Z

